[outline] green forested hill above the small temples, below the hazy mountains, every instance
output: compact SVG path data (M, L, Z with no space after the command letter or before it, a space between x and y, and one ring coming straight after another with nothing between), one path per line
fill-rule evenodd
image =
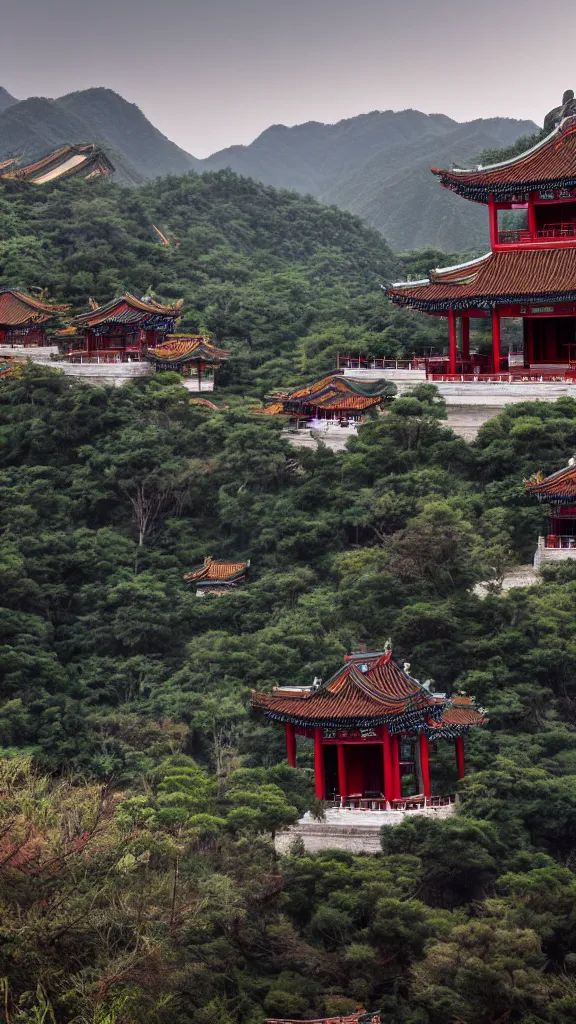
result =
M325 373L338 349L394 357L444 345L442 322L382 292L417 262L358 217L228 171L138 189L71 179L0 190L0 287L46 290L77 312L125 290L183 298L181 329L230 347L220 382L242 393Z

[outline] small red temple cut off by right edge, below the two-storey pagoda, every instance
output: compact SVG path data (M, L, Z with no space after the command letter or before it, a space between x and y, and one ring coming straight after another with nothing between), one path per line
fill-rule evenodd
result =
M538 538L534 567L576 558L576 459L549 476L535 473L526 481L526 489L549 507L547 530Z

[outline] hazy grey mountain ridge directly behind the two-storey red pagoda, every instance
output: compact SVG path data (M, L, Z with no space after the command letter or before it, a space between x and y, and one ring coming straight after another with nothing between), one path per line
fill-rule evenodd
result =
M458 124L419 111L378 112L335 125L276 125L247 146L202 162L231 167L279 187L311 193L364 217L396 250L434 245L483 248L485 211L441 189L431 165L468 165L490 148L535 130L531 121L479 119Z

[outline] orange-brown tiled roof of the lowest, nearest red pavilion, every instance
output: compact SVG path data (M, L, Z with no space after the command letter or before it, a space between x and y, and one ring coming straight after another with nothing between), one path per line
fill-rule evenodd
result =
M387 724L393 732L420 728L435 735L457 735L484 716L468 698L466 707L434 693L409 675L392 657L392 651L348 654L343 668L327 682L294 690L277 687L272 694L252 693L252 707L268 718L299 726L361 728ZM461 699L461 698L460 698Z

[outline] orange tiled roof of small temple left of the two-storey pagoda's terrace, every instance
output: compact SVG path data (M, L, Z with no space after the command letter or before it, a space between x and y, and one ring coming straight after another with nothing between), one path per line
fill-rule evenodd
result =
M357 381L340 374L329 374L313 384L276 395L270 406L254 412L278 416L310 408L364 410L381 404L387 397L388 388L384 380Z

